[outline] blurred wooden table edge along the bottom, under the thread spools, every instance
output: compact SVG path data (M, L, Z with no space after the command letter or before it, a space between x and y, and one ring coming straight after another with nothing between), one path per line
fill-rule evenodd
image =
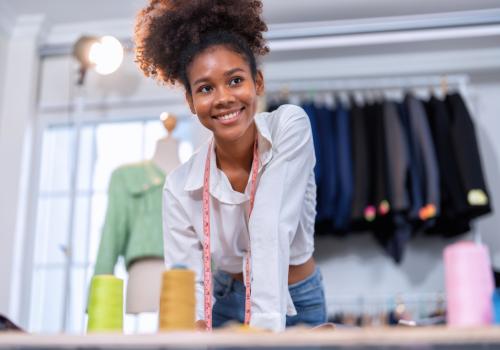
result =
M154 335L0 333L0 349L500 349L500 327L367 328Z

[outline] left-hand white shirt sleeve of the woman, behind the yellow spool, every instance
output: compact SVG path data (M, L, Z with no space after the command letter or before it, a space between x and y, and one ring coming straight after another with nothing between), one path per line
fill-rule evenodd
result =
M203 320L203 250L186 210L170 190L168 180L163 190L163 235L166 268L182 264L196 274L196 320Z

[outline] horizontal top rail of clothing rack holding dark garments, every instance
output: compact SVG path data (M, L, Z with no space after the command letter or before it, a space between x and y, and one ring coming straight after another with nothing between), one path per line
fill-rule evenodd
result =
M396 77L374 77L374 78L347 78L328 80L272 80L266 81L266 91L270 94L280 93L314 93L314 92L352 92L371 90L395 90L395 89L417 89L457 88L466 95L467 85L470 78L465 74L453 75L428 75L428 76L396 76Z

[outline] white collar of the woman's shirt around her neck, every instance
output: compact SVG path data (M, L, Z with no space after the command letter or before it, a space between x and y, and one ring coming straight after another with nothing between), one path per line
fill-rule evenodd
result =
M262 168L269 163L272 159L273 152L273 142L271 139L271 133L269 132L269 127L266 121L266 115L269 113L259 113L254 117L255 125L257 127L257 138L258 138L258 152L259 152L259 173ZM196 191L203 187L203 176L205 173L205 162L207 159L207 152L210 145L212 144L212 138L208 140L203 146L200 147L198 152L193 155L191 169L189 171L186 184L184 186L185 191ZM220 191L217 188L221 187L222 177L217 174L217 167L215 166L215 152L212 145L212 159L210 167L210 194L216 195ZM224 200L226 202L226 200ZM240 200L237 200L238 202ZM234 200L230 200L234 202Z

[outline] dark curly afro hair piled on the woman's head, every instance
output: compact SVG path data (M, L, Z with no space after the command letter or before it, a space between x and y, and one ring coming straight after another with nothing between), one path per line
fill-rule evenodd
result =
M269 52L260 0L150 0L135 25L136 62L148 77L180 82L191 93L187 67L214 45L239 53L257 74L256 56Z

